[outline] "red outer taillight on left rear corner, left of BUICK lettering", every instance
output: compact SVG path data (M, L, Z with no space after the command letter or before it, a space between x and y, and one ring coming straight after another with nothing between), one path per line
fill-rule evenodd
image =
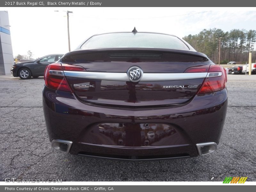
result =
M60 63L52 63L45 68L44 81L45 85L51 89L72 92Z

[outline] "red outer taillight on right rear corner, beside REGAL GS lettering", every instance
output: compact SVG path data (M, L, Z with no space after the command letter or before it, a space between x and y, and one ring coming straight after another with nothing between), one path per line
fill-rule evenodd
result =
M226 87L226 70L218 65L211 65L201 89L197 94L220 91Z

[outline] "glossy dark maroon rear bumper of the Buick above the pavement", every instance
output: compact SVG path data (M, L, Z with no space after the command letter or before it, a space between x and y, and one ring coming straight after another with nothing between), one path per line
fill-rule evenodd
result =
M71 141L70 154L148 160L194 157L196 144L218 144L227 98L224 89L179 107L109 108L44 87L43 108L50 141Z

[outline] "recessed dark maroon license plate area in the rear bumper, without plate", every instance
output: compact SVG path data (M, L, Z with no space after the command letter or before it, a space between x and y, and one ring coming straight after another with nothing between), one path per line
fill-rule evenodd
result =
M80 143L123 147L188 144L183 132L169 124L103 123L86 129Z

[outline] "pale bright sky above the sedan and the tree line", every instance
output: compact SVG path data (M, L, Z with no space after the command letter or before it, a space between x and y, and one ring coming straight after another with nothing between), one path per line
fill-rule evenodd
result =
M161 32L178 37L203 29L256 30L256 8L172 7L61 7L5 8L9 13L13 56L33 58L68 52L67 14L71 51L86 38L100 33L132 31ZM55 12L58 10L59 12Z

